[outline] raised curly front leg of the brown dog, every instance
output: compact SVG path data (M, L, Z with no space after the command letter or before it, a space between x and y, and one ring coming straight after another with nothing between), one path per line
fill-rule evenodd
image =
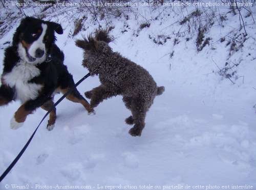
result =
M100 85L93 90L91 90L91 107L96 107L100 102L104 99L110 98L112 96L117 96L120 92L113 87L106 87L104 85ZM88 93L86 93L88 94Z

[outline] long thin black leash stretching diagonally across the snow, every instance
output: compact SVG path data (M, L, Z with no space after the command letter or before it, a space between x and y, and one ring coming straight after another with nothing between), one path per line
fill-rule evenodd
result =
M66 92L63 96L61 96L61 98L58 99L58 101L56 101L54 103L54 105L51 107L51 109L46 113L46 115L42 118L42 120L40 121L40 123L38 124L38 126L36 127L35 131L33 132L33 134L31 135L31 137L29 138L28 142L26 143L26 145L23 147L23 149L18 153L18 155L16 156L16 158L12 161L12 163L10 164L10 166L5 170L5 172L1 175L0 177L0 182L5 178L5 176L11 171L11 169L15 166L15 164L17 163L17 161L19 160L20 157L22 157L23 153L25 152L25 150L28 148L31 140L33 139L37 129L39 128L40 124L42 123L42 121L44 121L44 119L50 114L50 112L54 109L54 107L56 105L58 105L66 96L68 96L78 85L80 85L80 83L83 82L83 80L85 80L86 78L88 78L91 74L88 73L87 75L85 75L84 77L82 77L73 88L71 88L68 92Z

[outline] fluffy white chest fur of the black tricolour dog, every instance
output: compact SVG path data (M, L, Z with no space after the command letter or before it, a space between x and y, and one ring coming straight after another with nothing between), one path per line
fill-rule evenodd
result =
M17 64L10 73L5 74L4 81L11 88L15 88L16 98L22 103L35 99L38 96L42 85L28 83L29 80L38 76L40 70L34 65L27 63Z

